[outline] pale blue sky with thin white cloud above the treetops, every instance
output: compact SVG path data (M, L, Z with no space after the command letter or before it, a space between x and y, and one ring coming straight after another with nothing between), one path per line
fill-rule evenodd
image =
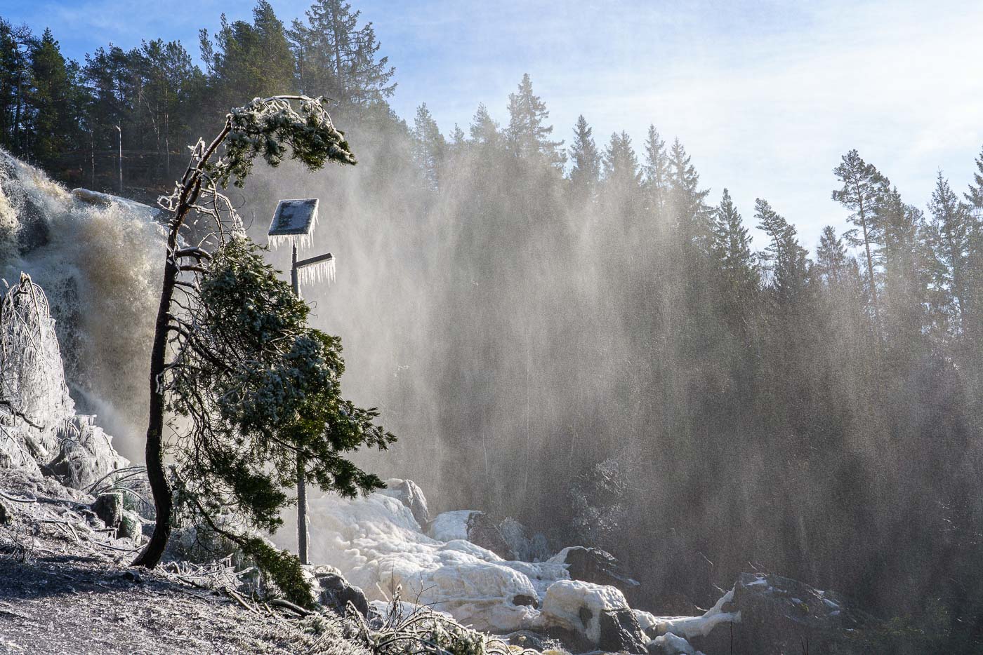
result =
M270 0L285 23L311 0ZM983 3L633 0L351 0L396 67L392 105L412 121L426 102L444 134L467 130L479 102L507 122L524 73L546 101L554 136L578 114L599 146L626 131L643 148L649 124L678 136L709 200L728 188L753 223L767 198L813 248L845 213L832 169L857 148L925 208L938 171L961 193L983 146ZM685 5L685 6L683 6ZM179 39L252 2L0 0L0 16L51 27L66 56L113 43ZM641 156L641 153L640 153ZM755 240L761 247L760 236Z

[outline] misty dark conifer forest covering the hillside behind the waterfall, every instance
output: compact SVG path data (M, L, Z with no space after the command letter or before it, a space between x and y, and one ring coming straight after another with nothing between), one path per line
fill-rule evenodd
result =
M240 213L261 235L277 196L326 205L338 282L305 294L400 435L379 467L437 505L604 548L667 611L766 571L930 621L953 648L983 638L981 144L972 185L939 173L930 197L844 149L812 181L844 222L807 244L796 207L768 189L735 206L658 125L553 126L529 76L505 121L395 115L371 20L260 0L196 56L148 36L80 62L0 22L0 145L152 203L230 107L329 98L358 166L258 175ZM125 406L120 389L103 391Z

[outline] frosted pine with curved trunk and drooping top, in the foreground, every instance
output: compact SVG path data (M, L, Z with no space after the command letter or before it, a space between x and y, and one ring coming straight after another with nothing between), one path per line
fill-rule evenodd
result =
M232 110L210 144L199 141L181 182L161 198L170 220L146 431L156 524L134 564L160 561L177 497L183 512L238 544L288 597L310 604L300 561L270 547L257 528L280 524L298 458L308 481L354 496L383 485L344 454L384 450L395 438L375 423L376 409L341 398L339 340L307 325L310 307L263 261L220 191L230 182L242 187L258 156L271 166L289 156L309 169L355 163L319 98L257 98ZM191 221L206 224L197 245L183 239ZM165 414L179 417L170 475Z

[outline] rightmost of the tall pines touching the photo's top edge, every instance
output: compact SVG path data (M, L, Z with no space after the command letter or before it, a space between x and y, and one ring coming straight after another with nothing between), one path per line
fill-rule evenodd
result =
M323 95L343 109L362 109L392 96L395 68L388 57L378 57L381 46L372 23L358 27L361 15L347 2L317 0L306 12L306 24L293 22L289 35L302 92Z

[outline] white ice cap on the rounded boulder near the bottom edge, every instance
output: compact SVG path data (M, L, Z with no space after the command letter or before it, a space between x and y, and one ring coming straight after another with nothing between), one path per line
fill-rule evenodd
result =
M581 580L559 580L549 585L543 601L544 627L576 630L598 643L601 641L601 615L627 608L624 595L614 587ZM586 617L586 623L582 617Z

